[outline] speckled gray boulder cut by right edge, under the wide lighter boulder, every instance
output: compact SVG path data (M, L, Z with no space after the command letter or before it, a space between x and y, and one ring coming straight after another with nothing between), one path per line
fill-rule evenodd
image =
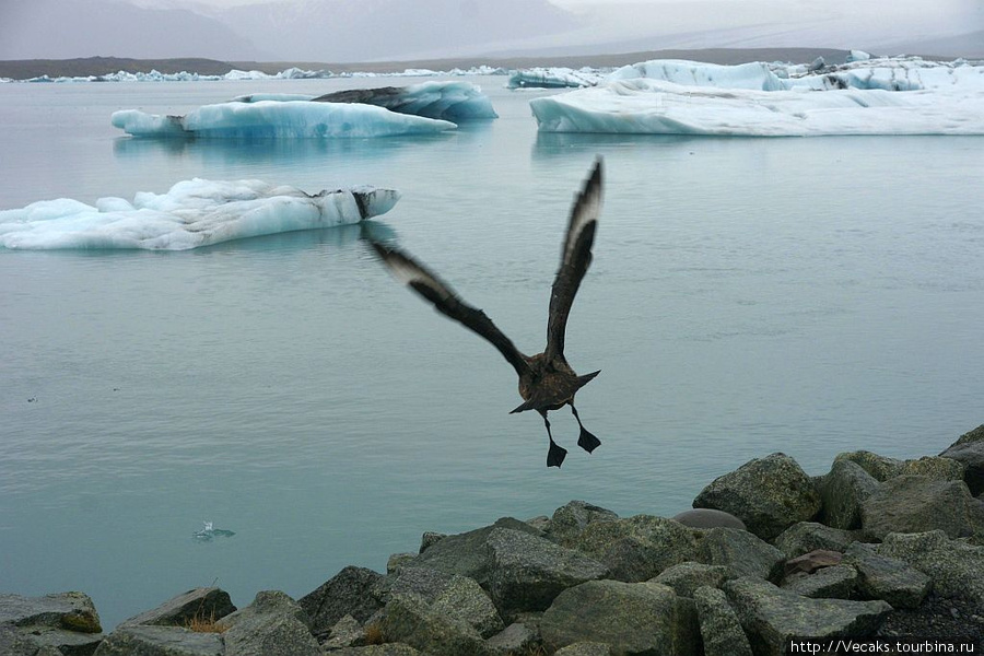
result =
M904 561L933 579L940 597L959 597L984 604L984 547L950 540L941 530L889 534L879 555Z

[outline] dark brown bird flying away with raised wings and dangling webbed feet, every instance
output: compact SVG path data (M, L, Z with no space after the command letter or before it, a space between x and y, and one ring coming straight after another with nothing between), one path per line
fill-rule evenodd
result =
M553 441L547 412L571 406L571 412L581 426L577 445L591 453L601 442L589 433L574 407L574 395L600 371L578 376L564 358L564 331L567 315L577 294L577 288L591 263L591 244L598 226L601 210L601 159L599 157L574 198L567 233L561 249L560 269L553 280L550 295L550 311L547 320L547 349L536 355L526 355L513 344L492 320L477 307L468 305L445 282L429 271L412 257L390 246L371 241L376 253L389 267L397 279L434 304L437 312L460 323L499 349L503 358L513 365L519 376L519 396L524 403L512 412L536 410L547 424L550 447L547 452L547 467L560 467L567 449Z

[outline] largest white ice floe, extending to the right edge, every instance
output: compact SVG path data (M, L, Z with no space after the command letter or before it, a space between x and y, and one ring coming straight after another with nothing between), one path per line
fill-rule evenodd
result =
M869 59L810 72L648 61L530 107L543 132L984 134L984 66Z

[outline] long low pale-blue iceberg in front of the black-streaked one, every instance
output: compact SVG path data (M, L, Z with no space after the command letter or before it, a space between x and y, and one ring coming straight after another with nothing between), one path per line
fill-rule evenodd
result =
M409 116L372 105L259 101L203 105L185 116L160 116L138 109L115 112L117 127L133 137L225 139L367 138L425 134L453 130L450 121Z

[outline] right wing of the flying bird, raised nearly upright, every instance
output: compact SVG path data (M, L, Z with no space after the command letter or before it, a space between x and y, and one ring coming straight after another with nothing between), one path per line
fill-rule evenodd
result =
M574 198L571 221L564 237L561 266L550 293L550 316L547 320L547 360L564 355L564 331L567 315L581 286L581 280L591 263L591 244L601 211L601 159L595 161L591 174Z

